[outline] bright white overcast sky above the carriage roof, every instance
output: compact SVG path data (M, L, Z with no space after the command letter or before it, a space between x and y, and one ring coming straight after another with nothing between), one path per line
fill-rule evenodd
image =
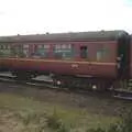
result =
M125 30L132 0L0 0L0 35Z

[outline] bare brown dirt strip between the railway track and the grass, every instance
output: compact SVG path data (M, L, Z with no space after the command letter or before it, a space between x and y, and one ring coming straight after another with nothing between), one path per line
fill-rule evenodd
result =
M132 101L111 98L109 95L97 95L96 92L75 94L74 91L62 91L48 88L37 89L35 87L0 84L0 92L14 94L23 97L35 98L38 101L62 105L64 107L86 109L90 112L114 116L119 110L132 106Z

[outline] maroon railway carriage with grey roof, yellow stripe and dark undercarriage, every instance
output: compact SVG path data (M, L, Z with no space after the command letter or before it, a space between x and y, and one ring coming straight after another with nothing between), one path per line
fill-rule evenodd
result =
M132 35L113 30L0 36L0 70L22 80L46 75L68 88L113 89L132 78Z

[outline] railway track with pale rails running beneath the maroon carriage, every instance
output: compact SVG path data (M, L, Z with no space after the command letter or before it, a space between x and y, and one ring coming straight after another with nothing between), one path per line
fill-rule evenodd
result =
M30 80L19 80L14 76L9 76L9 75L0 75L0 81L1 82L11 82L11 84L18 84L18 85L26 85L26 86L32 86L35 88L40 89L53 89L53 90L59 90L59 91L65 91L65 92L76 92L76 94L82 94L82 95L89 95L91 94L91 90L84 90L84 89L68 89L68 88L61 88L58 86L55 86L52 80L38 80L38 79L30 79ZM121 90L109 90L109 91L94 91L92 94L96 96L103 96L107 98L117 98L117 99L123 99L123 100L132 100L132 92L129 91L121 91Z

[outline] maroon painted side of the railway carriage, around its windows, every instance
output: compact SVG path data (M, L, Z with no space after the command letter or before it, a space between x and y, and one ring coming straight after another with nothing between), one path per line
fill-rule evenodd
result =
M59 42L58 42L59 43ZM58 44L57 43L57 44ZM0 63L3 66L10 67L15 70L37 70L37 72L48 72L61 75L84 75L84 76L94 76L94 77L108 77L116 78L117 77L117 41L92 41L92 42L62 42L62 43L70 43L75 46L75 51L77 52L76 56L70 61L62 61L53 57L53 53L50 52L50 58L33 58L30 56L28 58L2 58ZM44 43L36 43L44 44ZM56 43L47 43L51 44L51 51L53 51L53 46ZM87 45L89 59L80 58L79 47L82 45ZM97 50L100 47L107 47L109 50L109 57L97 62ZM33 47L31 44L30 47ZM33 48L30 48L30 53L32 53Z

